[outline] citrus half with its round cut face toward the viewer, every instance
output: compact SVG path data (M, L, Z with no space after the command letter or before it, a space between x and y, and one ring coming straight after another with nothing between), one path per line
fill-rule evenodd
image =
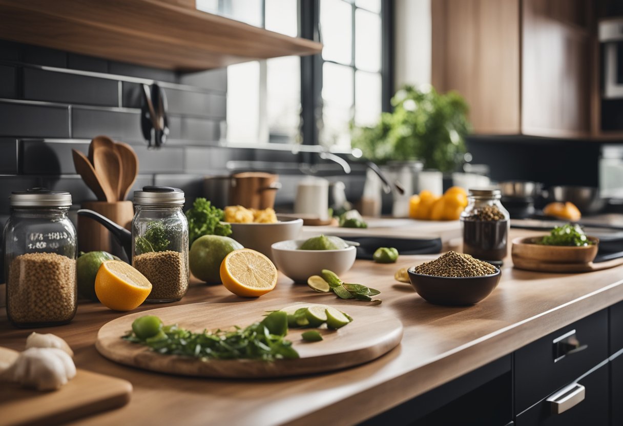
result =
M221 263L221 281L234 295L259 297L277 285L277 268L260 252L234 250Z

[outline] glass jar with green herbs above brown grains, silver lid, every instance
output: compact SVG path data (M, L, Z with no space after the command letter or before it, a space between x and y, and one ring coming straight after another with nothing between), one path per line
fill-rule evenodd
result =
M188 290L188 221L184 191L145 186L134 192L132 266L150 280L150 302L180 300Z

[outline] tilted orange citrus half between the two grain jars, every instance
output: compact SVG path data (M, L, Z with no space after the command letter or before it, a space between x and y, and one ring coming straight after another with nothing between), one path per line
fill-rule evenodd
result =
M95 277L95 294L107 308L130 311L151 293L145 275L120 260L105 260Z

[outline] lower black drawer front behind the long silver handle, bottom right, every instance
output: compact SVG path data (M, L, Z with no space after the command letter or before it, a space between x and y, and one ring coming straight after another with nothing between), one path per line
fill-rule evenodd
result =
M516 426L586 426L607 425L609 417L608 370L604 364L578 381L584 386L584 400L560 413L553 414L551 403L542 400L515 419ZM549 396L549 395L548 395Z

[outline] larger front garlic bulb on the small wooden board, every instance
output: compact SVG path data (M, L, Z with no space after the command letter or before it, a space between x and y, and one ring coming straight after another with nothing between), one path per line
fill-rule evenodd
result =
M74 360L58 348L30 348L0 374L0 379L39 391L59 389L76 375Z

